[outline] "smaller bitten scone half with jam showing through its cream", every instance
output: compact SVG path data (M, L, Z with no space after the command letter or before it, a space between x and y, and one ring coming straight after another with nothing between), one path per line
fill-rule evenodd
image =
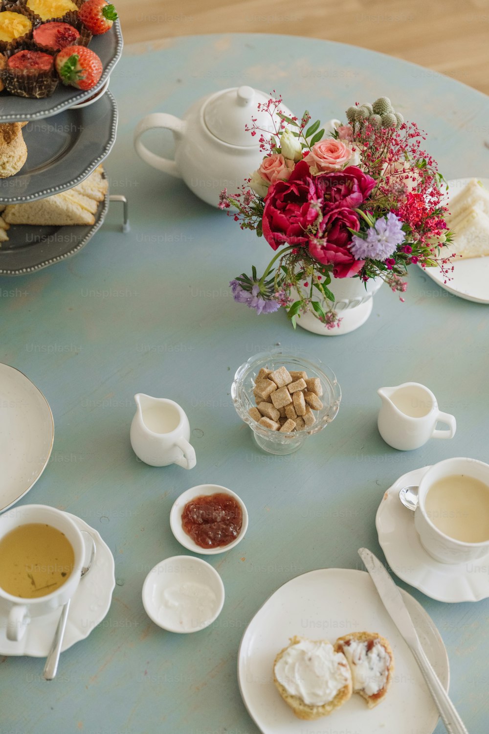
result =
M339 637L334 650L348 661L353 693L374 708L386 696L394 673L394 654L385 637L376 632L351 632Z

